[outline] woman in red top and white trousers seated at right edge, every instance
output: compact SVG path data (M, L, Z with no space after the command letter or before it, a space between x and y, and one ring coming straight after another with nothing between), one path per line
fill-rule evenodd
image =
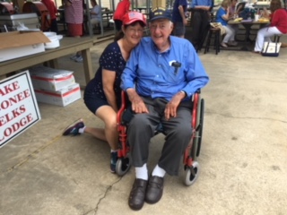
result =
M281 0L272 0L270 2L270 25L258 30L257 41L253 53L260 54L265 41L271 41L271 37L276 34L287 33L287 11L282 8Z

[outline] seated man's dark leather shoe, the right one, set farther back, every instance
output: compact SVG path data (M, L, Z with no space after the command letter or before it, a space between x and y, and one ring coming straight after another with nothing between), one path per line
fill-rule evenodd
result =
M163 192L163 177L151 176L145 193L145 202L156 203L161 200Z

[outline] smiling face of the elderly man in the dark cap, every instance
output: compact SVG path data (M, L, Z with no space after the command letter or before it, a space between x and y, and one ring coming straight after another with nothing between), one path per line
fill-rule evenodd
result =
M151 36L154 44L161 48L169 42L173 29L172 22L167 19L159 19L150 23Z

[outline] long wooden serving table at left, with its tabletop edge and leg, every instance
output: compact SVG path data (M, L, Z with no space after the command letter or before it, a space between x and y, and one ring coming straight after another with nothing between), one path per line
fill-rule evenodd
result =
M90 82L93 77L91 66L91 52L90 47L93 46L93 39L91 38L66 38L60 40L60 47L46 50L31 56L19 57L13 60L0 62L0 80L4 79L9 73L24 70L35 64L42 64L48 62L52 68L58 68L57 58L75 54L78 51L82 52L83 56L83 73L86 84ZM81 86L83 89L85 86Z

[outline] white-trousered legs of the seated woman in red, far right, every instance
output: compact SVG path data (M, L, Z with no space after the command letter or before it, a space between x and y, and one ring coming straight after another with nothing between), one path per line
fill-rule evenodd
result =
M282 32L276 27L266 27L257 32L257 41L255 43L254 51L261 52L265 41L270 41L270 37Z

